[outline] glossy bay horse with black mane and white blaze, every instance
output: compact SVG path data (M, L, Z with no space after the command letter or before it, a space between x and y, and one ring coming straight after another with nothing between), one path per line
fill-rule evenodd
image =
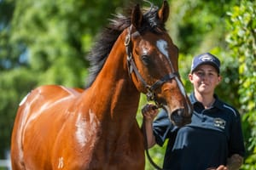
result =
M45 85L27 94L15 118L12 168L144 169L140 94L177 126L189 123L192 111L165 29L168 15L166 1L115 15L91 50L87 88Z

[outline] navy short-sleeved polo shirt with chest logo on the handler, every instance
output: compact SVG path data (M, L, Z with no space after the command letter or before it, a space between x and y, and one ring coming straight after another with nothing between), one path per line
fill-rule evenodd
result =
M204 106L191 94L194 106L192 122L177 128L166 112L160 111L153 123L156 143L162 146L166 139L164 169L205 170L226 165L233 154L244 156L240 114L217 95L211 108Z

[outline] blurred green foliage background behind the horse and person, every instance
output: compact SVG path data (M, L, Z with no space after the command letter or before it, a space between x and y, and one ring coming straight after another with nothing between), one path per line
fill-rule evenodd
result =
M149 0L160 6L162 0ZM141 0L133 1L148 6ZM254 0L169 0L166 28L179 48L188 94L192 57L211 52L222 62L221 99L241 113L247 155L241 169L256 169L256 3ZM84 88L86 54L113 14L131 0L0 0L0 164L9 155L18 105L33 88ZM142 94L137 111L147 103ZM49 119L54 117L49 117ZM47 140L47 139L46 139ZM150 149L161 165L165 147ZM0 167L5 169L6 167ZM148 163L146 169L153 169Z

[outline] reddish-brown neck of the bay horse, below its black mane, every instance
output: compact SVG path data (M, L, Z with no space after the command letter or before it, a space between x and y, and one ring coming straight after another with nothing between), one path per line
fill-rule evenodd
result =
M119 126L126 126L135 119L140 93L128 73L124 36L114 43L102 71L87 91L93 101L90 105L102 121L111 119Z

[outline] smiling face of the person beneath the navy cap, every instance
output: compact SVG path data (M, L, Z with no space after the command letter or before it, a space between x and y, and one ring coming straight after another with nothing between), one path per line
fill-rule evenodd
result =
M200 65L189 74L189 80L194 85L195 93L212 95L221 77L212 65Z

